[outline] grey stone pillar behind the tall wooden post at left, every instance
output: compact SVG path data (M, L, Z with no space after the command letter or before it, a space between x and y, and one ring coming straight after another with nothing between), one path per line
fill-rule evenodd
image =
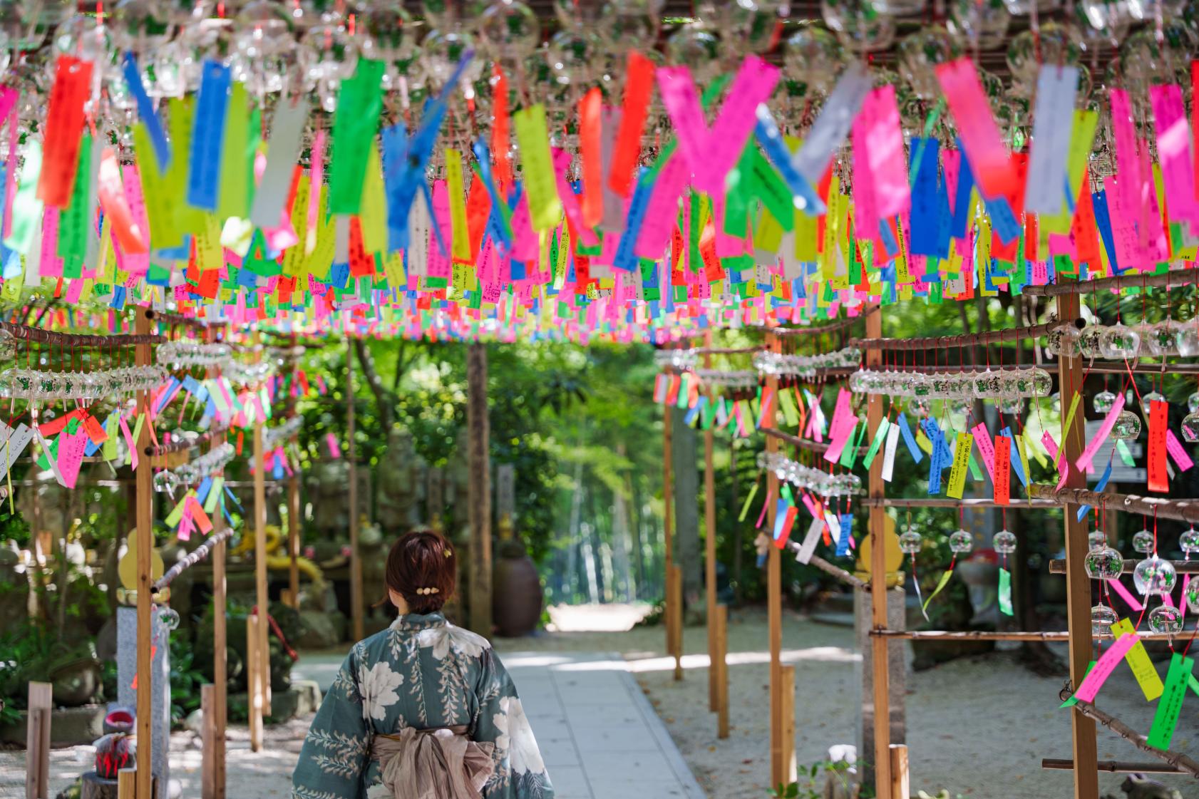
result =
M158 619L158 613L151 613L153 623L153 659L150 663L153 691L151 705L153 711L150 771L157 785L167 785L169 779L170 746L170 631ZM133 675L138 672L138 611L133 607L116 608L116 701L128 708L137 708L138 692L133 689ZM139 681L138 690L145 690ZM138 747L138 757L141 747ZM140 759L139 759L140 763ZM159 798L162 799L162 798Z

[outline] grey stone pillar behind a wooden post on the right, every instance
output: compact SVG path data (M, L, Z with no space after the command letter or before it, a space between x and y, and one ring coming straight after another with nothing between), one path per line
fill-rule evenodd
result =
M892 588L887 591L888 629L906 629L905 599L903 588ZM862 653L862 660L857 665L857 674L861 678L862 685L862 721L857 735L857 758L868 764L862 769L862 782L866 785L874 783L874 647L887 647L891 677L891 743L908 743L906 715L904 711L904 696L908 687L906 642L902 639L884 641L881 638L872 638L869 630L870 595L868 591L854 591L854 633L857 638L857 650Z

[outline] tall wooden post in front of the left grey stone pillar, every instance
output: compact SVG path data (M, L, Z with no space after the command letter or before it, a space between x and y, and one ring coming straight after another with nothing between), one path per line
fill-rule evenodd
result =
M134 318L134 332L139 336L150 335L150 308L138 308ZM138 366L150 366L153 355L150 344L137 344L133 348L134 362ZM150 408L150 392L138 391L137 410L146 414L141 425L141 434L138 437L137 447L141 452L135 469L137 487L134 497L137 500L138 519L138 692L137 692L137 735L138 735L138 774L137 774L137 799L153 799L153 775L151 763L153 762L151 749L153 746L153 620L151 618L150 570L153 552L153 470L151 458L145 456L145 449L150 445L150 421L147 410ZM165 645L165 642L163 642Z

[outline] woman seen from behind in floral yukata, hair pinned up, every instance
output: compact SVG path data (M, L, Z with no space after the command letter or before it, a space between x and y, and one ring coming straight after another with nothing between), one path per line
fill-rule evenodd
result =
M454 552L436 533L392 546L399 618L342 663L300 752L293 799L552 799L512 679L490 643L446 621Z

